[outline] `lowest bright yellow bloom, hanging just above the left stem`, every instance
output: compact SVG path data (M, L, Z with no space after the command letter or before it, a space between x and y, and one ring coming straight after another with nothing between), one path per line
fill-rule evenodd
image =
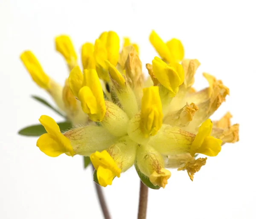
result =
M106 187L112 185L115 176L120 177L121 169L117 167L107 151L96 151L90 155L90 160L97 171L99 184Z

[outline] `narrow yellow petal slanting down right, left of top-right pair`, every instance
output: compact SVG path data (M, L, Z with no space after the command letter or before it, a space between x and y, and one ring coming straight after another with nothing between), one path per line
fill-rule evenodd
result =
M162 57L169 63L172 61L172 55L169 51L168 46L166 45L166 43L163 42L163 40L157 35L155 31L151 32L149 36L149 41L152 46L154 46L160 57Z

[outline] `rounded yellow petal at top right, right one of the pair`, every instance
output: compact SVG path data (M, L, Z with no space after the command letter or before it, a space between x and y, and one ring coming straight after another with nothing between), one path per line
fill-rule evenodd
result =
M172 54L172 62L180 62L184 58L184 48L180 40L173 38L166 43Z

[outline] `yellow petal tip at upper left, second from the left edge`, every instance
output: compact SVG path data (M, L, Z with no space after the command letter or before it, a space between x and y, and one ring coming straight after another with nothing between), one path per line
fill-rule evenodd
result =
M61 35L55 38L56 50L65 58L71 69L77 65L77 55L71 39L67 35Z

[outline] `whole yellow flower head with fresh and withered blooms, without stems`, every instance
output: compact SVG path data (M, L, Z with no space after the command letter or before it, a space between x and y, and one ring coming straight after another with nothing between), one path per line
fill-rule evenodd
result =
M219 121L209 119L229 89L204 73L209 87L196 92L192 85L199 61L184 59L180 40L165 43L154 31L149 40L160 57L146 64L145 78L139 47L125 38L119 52L119 36L113 31L82 46L83 71L70 38L56 37L56 50L70 69L63 87L31 51L23 52L21 60L32 79L73 124L61 133L54 119L41 116L47 133L39 137L38 148L52 157L90 156L102 186L135 165L140 176L165 188L171 176L167 168L186 170L193 180L207 159L196 159L198 154L216 156L224 143L238 141L239 125L230 124L230 113Z

